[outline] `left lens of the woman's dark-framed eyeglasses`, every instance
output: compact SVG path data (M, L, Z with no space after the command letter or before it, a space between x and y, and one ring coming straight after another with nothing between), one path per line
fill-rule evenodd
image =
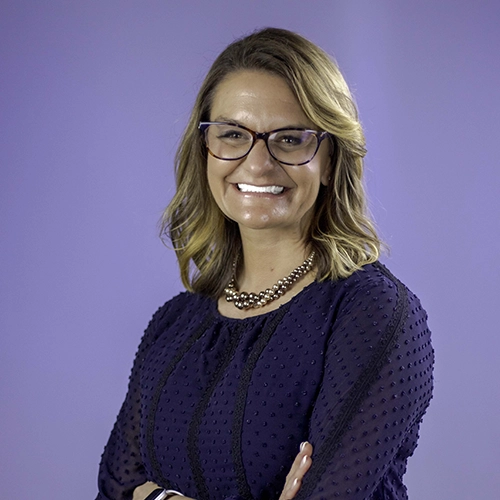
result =
M250 151L253 137L237 125L213 123L205 131L205 140L212 155L223 160L236 160Z

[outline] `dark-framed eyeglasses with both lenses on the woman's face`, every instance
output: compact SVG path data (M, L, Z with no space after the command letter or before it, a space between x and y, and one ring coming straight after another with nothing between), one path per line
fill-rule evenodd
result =
M255 132L243 125L226 122L200 122L208 152L219 160L240 160L257 139L266 143L269 154L285 165L304 165L318 152L328 132L302 128L279 128L271 132Z

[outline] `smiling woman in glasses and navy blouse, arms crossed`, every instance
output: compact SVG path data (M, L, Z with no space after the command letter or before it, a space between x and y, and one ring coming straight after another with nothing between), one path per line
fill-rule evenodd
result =
M188 292L141 341L99 499L407 498L433 351L377 262L364 154L311 42L264 29L217 58L163 218Z

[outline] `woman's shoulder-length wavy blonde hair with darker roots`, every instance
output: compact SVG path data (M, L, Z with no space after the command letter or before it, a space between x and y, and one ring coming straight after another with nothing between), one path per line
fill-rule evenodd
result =
M223 215L210 192L207 151L198 123L210 120L222 80L242 70L283 78L306 116L332 137L332 174L328 185L320 188L306 242L316 251L317 279L347 277L375 262L381 242L366 213L365 138L349 88L319 47L296 33L266 28L236 40L217 57L177 151L177 191L162 216L161 234L170 236L184 286L219 297L241 252L237 224Z

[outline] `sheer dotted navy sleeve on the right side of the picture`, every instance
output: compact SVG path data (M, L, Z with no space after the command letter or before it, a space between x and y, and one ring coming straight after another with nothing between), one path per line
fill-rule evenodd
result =
M418 299L384 268L345 299L328 345L297 500L402 500L402 476L432 393L433 350Z

